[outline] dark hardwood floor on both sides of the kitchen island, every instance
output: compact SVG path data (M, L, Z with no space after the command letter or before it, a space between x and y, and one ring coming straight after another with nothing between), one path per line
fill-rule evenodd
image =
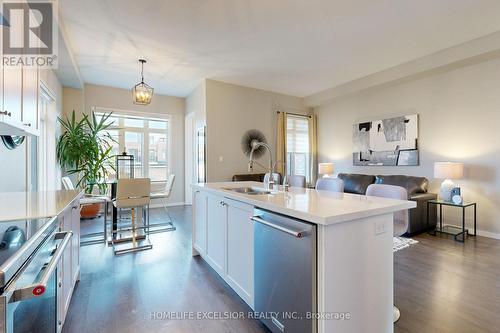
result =
M191 257L191 207L170 211L177 230L152 235L152 250L114 256L103 244L82 247L81 281L65 333L267 332L252 319L164 317L251 311L203 260ZM152 210L152 219L163 217L161 209ZM101 223L82 221L82 230ZM500 241L415 239L420 243L395 254L395 303L401 310L395 332L499 332Z

